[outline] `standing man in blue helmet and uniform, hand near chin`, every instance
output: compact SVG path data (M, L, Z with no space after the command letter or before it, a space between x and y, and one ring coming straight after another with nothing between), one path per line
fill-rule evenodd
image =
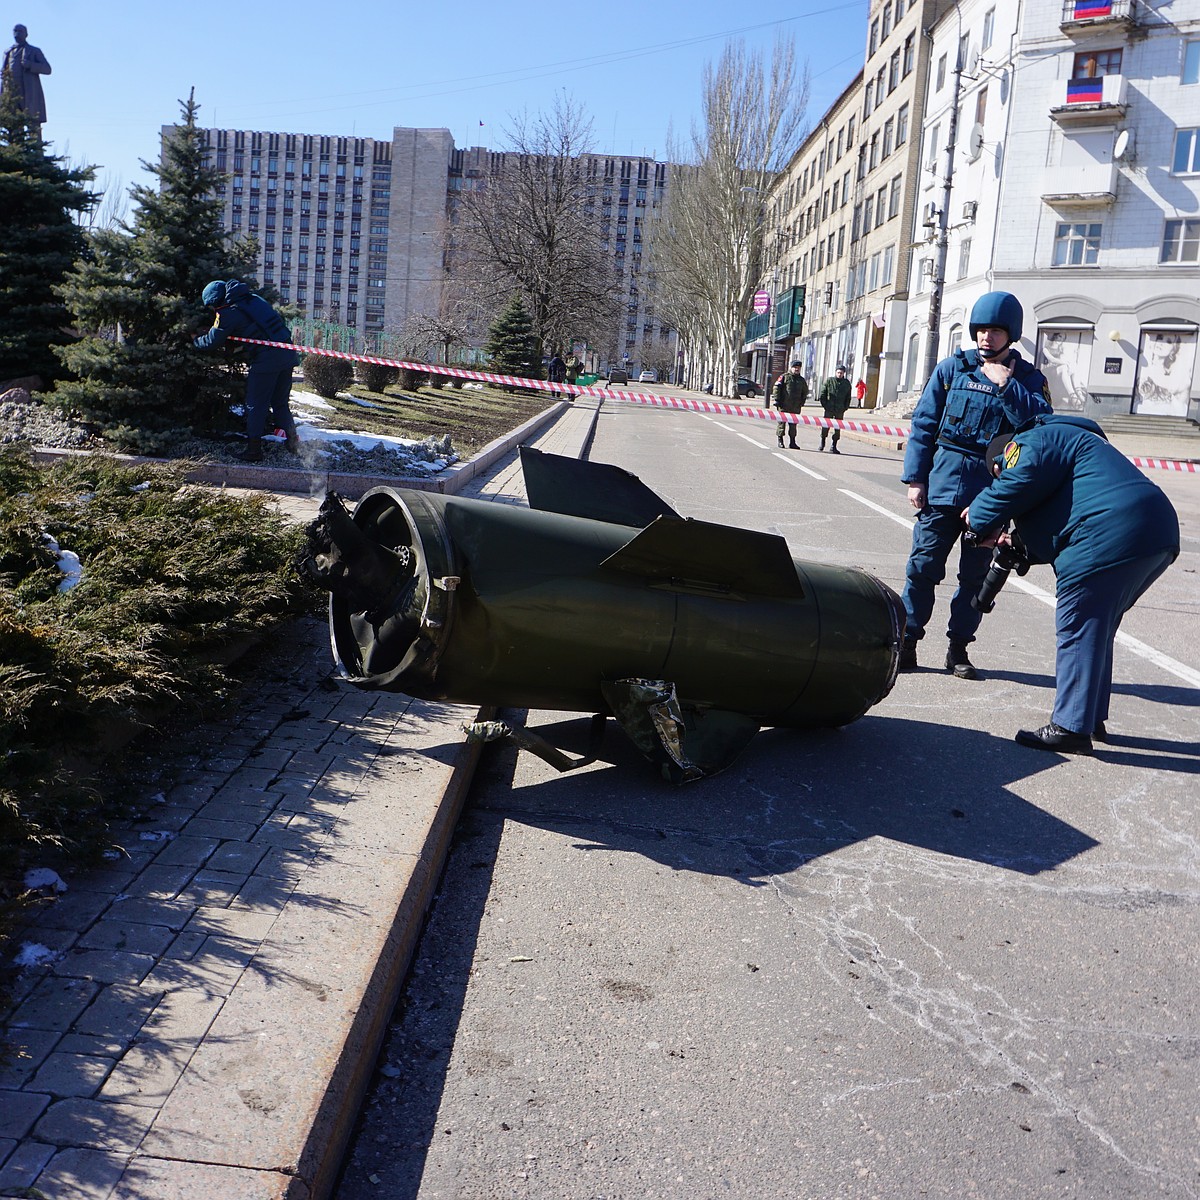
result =
M1045 377L1016 352L1024 313L1016 296L989 292L971 310L976 349L956 350L934 368L912 414L900 479L908 485L908 503L917 510L912 552L905 568L904 606L907 616L900 670L917 666L917 642L934 611L934 589L946 576L946 560L961 539L965 504L988 486L984 451L997 433L1050 412ZM959 583L950 598L946 670L960 679L978 672L967 656L983 619L971 605L991 553L962 545Z

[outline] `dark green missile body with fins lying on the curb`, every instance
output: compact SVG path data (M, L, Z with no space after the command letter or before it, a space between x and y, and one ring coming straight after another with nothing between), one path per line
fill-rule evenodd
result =
M845 725L892 689L904 610L874 576L679 517L619 468L522 466L536 508L380 487L350 518L326 498L307 568L349 683L613 715L678 781L763 726Z

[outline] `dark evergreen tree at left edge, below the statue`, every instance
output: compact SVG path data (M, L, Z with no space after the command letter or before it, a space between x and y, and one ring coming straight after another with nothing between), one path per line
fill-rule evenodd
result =
M84 251L76 218L100 199L84 186L95 170L64 162L29 132L13 89L0 92L0 380L61 370L50 346L71 336L71 316L53 288Z

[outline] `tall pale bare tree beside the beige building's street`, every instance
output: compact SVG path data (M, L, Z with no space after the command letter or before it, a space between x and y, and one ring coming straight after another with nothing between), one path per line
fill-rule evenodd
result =
M689 382L732 395L745 322L762 262L763 205L803 139L809 73L791 38L762 53L730 42L703 74L702 119L655 229L654 268L679 330Z

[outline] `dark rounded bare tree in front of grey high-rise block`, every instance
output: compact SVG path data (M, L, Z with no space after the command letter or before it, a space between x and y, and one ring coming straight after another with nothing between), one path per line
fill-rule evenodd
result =
M592 122L568 97L514 119L484 186L463 193L451 266L491 292L498 311L517 288L544 350L571 337L604 341L617 322L612 256L588 178Z

